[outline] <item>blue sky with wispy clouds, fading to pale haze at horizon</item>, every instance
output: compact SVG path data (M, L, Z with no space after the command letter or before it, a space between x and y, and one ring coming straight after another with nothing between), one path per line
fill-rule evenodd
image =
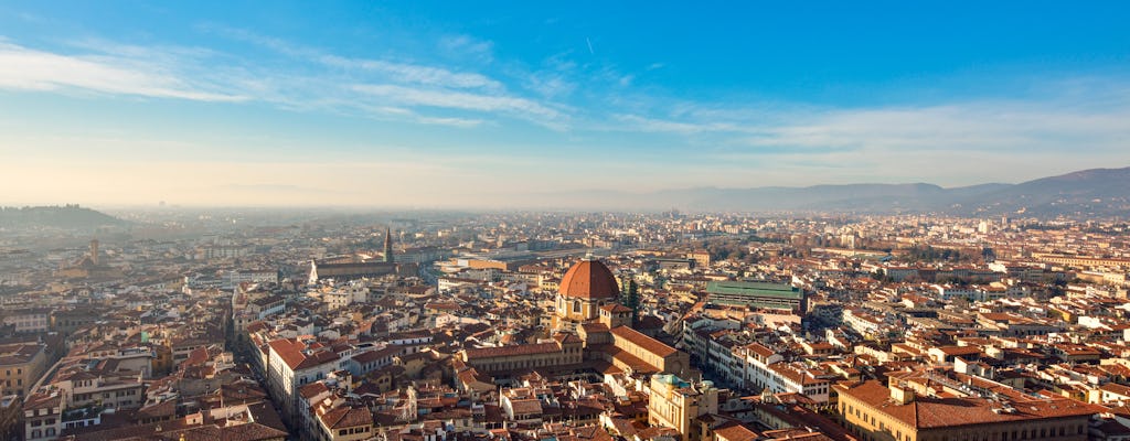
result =
M0 204L506 206L1130 166L1130 3L0 2Z

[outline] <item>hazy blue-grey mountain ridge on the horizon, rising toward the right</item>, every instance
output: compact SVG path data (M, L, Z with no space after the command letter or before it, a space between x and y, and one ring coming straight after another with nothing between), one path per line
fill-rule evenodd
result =
M643 194L588 191L538 197L559 206L584 209L1130 217L1130 167L1075 171L1020 184L954 188L933 184L850 184L705 187Z

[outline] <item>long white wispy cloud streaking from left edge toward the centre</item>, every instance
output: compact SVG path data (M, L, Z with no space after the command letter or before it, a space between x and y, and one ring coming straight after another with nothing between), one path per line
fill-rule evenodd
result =
M209 48L144 47L97 38L68 42L78 54L67 54L0 38L0 88L262 102L290 111L464 129L507 117L563 130L568 120L564 106L513 95L501 81L477 72L349 58L228 27L202 29L269 48L285 62L247 60ZM459 36L442 44L479 52L490 48L487 42Z

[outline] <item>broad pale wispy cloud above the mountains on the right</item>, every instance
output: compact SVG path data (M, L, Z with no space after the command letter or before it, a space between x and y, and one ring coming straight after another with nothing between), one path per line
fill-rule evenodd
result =
M1051 88L1054 90L1054 88ZM616 114L606 130L723 136L729 145L883 150L1062 150L1124 148L1130 139L1130 94L1076 88L1023 99L971 99L944 104L853 108L802 104L773 108L684 103L667 116Z

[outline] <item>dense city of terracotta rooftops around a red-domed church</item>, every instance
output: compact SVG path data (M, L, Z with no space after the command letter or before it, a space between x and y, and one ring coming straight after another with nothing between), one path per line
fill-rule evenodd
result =
M8 440L1130 440L1130 226L118 214L0 230Z

